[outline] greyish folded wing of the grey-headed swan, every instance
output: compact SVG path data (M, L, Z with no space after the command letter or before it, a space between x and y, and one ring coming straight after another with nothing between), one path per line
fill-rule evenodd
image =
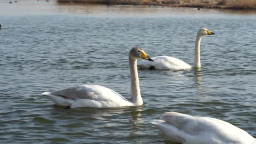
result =
M111 101L118 98L124 99L120 94L100 85L79 85L53 91L51 94L73 100L90 99L96 101Z

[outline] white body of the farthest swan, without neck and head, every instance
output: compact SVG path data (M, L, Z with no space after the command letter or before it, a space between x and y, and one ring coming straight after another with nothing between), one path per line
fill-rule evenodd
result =
M173 57L159 56L152 58L152 61L142 60L138 62L139 68L150 68L154 67L156 69L189 69L191 68L188 63Z

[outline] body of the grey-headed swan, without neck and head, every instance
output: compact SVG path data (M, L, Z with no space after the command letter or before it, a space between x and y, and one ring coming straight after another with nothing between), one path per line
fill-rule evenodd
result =
M76 107L125 107L135 106L115 91L100 85L78 85L67 89L44 92L56 105ZM65 95L61 97L61 95Z

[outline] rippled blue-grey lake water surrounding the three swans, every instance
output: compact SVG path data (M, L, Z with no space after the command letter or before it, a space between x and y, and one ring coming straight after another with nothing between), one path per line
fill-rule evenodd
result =
M210 116L256 136L254 11L162 6L0 3L1 143L171 143L149 122L165 111ZM193 62L201 70L139 70L145 106L64 109L45 91L98 84L129 98L128 52Z

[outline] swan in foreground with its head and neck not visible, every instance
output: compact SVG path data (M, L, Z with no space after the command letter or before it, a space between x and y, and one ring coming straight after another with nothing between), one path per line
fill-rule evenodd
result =
M256 144L256 139L238 127L211 117L168 112L153 123L173 142L187 144Z

